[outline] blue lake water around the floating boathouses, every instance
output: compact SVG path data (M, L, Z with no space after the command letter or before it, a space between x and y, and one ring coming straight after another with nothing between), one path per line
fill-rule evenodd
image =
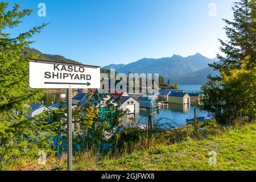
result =
M201 92L201 85L179 85L180 90L185 92ZM60 94L65 93L65 89L57 92L46 93L43 97L44 105L51 106L60 101L66 101L67 98L61 98ZM75 96L77 92L73 92ZM180 104L169 104L162 108L147 109L146 111L140 110L139 114L127 115L123 119L124 123L129 123L130 119L143 124L148 124L148 116L152 115L152 122L169 123L172 126L180 126L186 124L186 119L192 119L194 117L195 105L180 105ZM207 112L197 109L197 117L207 117Z

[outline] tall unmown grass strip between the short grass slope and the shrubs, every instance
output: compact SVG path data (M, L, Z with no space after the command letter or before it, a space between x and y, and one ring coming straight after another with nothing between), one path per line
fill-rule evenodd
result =
M234 126L240 127L240 126ZM195 122L191 125L181 126L176 129L159 130L153 128L151 130L143 130L135 127L129 127L117 134L111 150L100 153L95 148L87 151L77 151L73 155L74 169L96 169L98 164L107 164L109 160L120 158L135 152L146 152L168 146L174 143L180 143L185 140L200 140L209 137L209 135L218 136L225 133L226 126L217 125L214 119L204 122ZM163 151L160 151L163 152ZM33 167L35 169L67 169L67 154L63 153L59 158L48 158L46 166L39 166L37 160L15 159L6 165L3 170L27 169ZM93 168L93 166L95 168ZM31 169L31 168L28 168Z

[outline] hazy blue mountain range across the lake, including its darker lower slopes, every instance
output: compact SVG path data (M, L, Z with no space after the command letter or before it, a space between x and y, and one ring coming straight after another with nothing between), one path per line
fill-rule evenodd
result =
M182 57L174 55L160 59L143 58L130 64L110 64L104 69L115 69L118 73L159 73L167 81L173 84L201 85L207 81L208 75L215 76L218 73L208 66L217 62L217 59L209 59L200 53Z

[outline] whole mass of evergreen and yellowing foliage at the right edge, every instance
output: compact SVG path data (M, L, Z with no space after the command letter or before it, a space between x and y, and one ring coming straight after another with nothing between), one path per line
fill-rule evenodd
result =
M228 42L220 40L219 63L210 65L220 72L203 86L201 109L224 125L256 118L255 0L241 0L233 6L234 20L224 19Z

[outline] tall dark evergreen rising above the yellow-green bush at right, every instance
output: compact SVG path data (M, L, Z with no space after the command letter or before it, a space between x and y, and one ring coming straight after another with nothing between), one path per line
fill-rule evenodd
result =
M220 40L221 52L225 56L217 55L220 63L210 65L218 71L241 68L241 60L250 56L247 69L256 65L255 39L256 39L256 6L255 0L241 0L234 2L232 7L234 20L223 19L226 23L224 30L228 42Z

